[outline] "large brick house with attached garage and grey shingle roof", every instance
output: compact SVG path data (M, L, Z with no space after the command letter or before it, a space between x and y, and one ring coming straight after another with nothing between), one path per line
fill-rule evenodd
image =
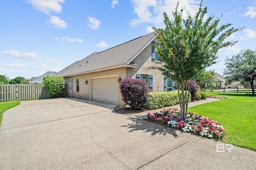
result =
M57 73L70 84L68 96L123 105L119 82L124 78L143 79L150 91L172 90L172 80L149 66L162 66L152 46L154 33L138 37L100 53L94 52ZM70 94L70 92L71 94Z

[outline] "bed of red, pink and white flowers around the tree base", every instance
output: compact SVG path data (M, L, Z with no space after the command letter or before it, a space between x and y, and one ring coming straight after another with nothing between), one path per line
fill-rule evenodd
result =
M148 113L147 120L167 124L168 127L210 139L222 139L226 135L220 123L202 115L188 112L187 119L182 121L178 109L170 108L156 113Z

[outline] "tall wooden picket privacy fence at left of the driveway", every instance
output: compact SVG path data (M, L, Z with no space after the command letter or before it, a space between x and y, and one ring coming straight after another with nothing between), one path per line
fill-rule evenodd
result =
M67 84L65 84L65 88L60 96L67 96ZM49 98L52 98L52 95L46 90L44 84L0 85L0 102Z

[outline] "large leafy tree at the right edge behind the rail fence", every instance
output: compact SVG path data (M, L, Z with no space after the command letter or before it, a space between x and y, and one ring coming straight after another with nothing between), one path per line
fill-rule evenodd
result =
M256 50L242 50L238 55L233 55L230 59L227 57L225 61L224 75L226 75L227 83L250 83L252 95L255 95L253 84L256 81Z

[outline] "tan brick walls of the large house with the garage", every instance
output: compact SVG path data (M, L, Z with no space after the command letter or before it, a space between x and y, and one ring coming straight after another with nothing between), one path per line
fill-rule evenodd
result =
M99 77L106 77L106 76L114 76L118 75L119 78L136 78L136 74L147 74L153 75L153 92L163 92L164 91L164 76L161 74L159 70L156 69L148 69L150 66L162 66L161 62L152 61L151 53L152 53L152 46L151 43L145 47L137 57L133 59L132 62L136 63L136 68L116 68L112 70L105 70L100 72L88 73L88 74L81 74L77 76L69 76L65 77L65 83L72 83L72 90L71 93L72 98L80 98L84 100L89 100L89 86L90 86L90 78L99 78ZM76 79L79 79L79 92L76 90ZM85 81L88 81L88 84L85 84ZM69 94L69 89L68 89ZM118 105L125 106L124 102L122 101L122 96L118 94Z

